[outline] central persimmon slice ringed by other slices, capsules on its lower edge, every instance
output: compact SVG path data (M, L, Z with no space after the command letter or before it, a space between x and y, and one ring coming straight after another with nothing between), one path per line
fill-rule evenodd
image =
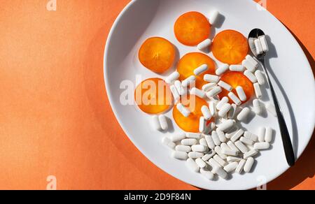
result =
M204 81L204 75L216 73L214 60L207 54L203 54L201 52L191 52L183 56L177 64L177 71L180 73L179 80L185 80L190 77L190 75L194 75L195 68L198 68L202 64L208 65L208 70L206 72L196 76L196 87L198 89L202 89L202 86L207 84L207 82Z

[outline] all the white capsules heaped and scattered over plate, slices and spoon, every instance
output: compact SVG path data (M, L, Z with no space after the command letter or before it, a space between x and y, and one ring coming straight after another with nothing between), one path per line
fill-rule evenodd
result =
M212 12L209 17L211 24L216 22L218 11ZM255 46L257 54L268 52L265 36L254 39L251 47ZM200 43L199 50L211 45L211 40ZM245 131L238 127L241 122L246 122L248 115L255 112L260 115L265 106L269 112L276 117L274 105L267 103L264 105L259 99L262 97L261 87L265 85L265 77L262 71L257 70L259 66L251 55L247 55L241 65L224 64L216 70L216 75L204 75L204 81L209 82L202 89L190 87L191 82L196 80L195 75L201 75L207 71L207 64L197 67L194 75L183 82L179 81L179 73L174 72L166 78L169 83L175 101L179 101L181 96L195 94L202 99L207 99L209 106L202 107L203 117L200 117L200 133L179 133L171 138L163 138L162 143L173 150L172 156L175 159L184 160L188 168L196 173L201 173L209 180L214 180L218 175L223 179L228 179L229 173L250 173L257 156L261 150L267 150L272 142L273 130L261 127L258 134ZM251 80L255 89L257 99L253 100L253 109L241 108L240 105L246 101L246 94L242 87L237 87L237 95L232 91L228 83L220 80L220 75L226 71L239 71ZM218 99L223 89L228 90L228 96L234 102L228 103L228 97ZM178 103L176 108L185 117L190 115L190 110L185 105ZM207 125L207 121L215 118L215 122ZM153 127L159 131L168 129L167 117L165 115L153 116Z

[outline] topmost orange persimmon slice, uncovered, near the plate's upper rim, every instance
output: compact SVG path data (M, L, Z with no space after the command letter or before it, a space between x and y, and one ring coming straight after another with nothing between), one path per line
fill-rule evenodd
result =
M177 40L188 46L195 46L209 38L211 24L207 17L195 11L181 15L175 22Z

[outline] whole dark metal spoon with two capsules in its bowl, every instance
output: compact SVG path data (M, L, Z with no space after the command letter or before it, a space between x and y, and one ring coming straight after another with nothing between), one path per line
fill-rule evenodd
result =
M248 43L249 43L249 41L253 41L254 38L258 38L259 36L263 36L263 35L265 35L265 34L262 30L253 29L248 36ZM251 44L249 44L249 45L251 45ZM253 52L253 54L255 55L255 58L258 59L258 61L260 61L262 68L265 71L265 74L267 76L267 82L268 82L268 85L269 85L270 90L272 92L272 98L274 100L274 106L276 108L276 115L278 116L281 138L282 138L282 142L283 142L283 148L284 148L284 152L286 154L286 161L288 161L289 166L294 166L295 156L294 156L294 152L293 152L292 143L290 140L290 135L288 133L288 128L286 126L286 121L283 118L283 114L282 114L278 99L276 98L276 93L274 92L274 87L272 86L272 82L270 81L267 68L265 67L265 55L266 55L266 53L264 52L264 53L258 55L255 48L251 48L251 52Z

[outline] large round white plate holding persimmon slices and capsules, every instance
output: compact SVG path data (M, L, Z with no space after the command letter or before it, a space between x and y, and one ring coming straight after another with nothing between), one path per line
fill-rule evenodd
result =
M202 175L191 172L185 162L172 159L171 150L161 144L162 137L172 133L153 131L148 124L148 115L137 110L135 105L120 103L120 82L131 80L136 75L142 79L157 77L141 66L137 53L141 43L151 36L162 36L176 45L182 57L187 52L197 51L181 45L173 32L179 15L197 10L207 15L216 8L223 15L224 23L215 30L235 29L247 36L253 28L260 28L269 35L273 45L267 58L267 67L272 68L272 81L284 112L297 157L304 151L311 138L315 124L314 76L304 52L286 27L258 4L251 0L137 0L132 1L113 24L104 54L104 78L107 94L118 122L139 150L156 166L170 175L202 189L251 189L274 180L288 169L283 153L281 136L276 118L268 115L255 117L245 127L257 133L259 126L276 130L272 150L261 152L255 170L246 175L233 174L230 180L209 181ZM175 68L172 69L174 71ZM276 75L276 78L274 76ZM161 77L161 76L160 76ZM164 77L164 76L163 76ZM134 85L135 86L135 85ZM269 89L267 89L269 94ZM290 113L289 113L290 112ZM172 117L172 111L167 115ZM180 131L174 124L174 131ZM152 175L154 176L154 175Z

